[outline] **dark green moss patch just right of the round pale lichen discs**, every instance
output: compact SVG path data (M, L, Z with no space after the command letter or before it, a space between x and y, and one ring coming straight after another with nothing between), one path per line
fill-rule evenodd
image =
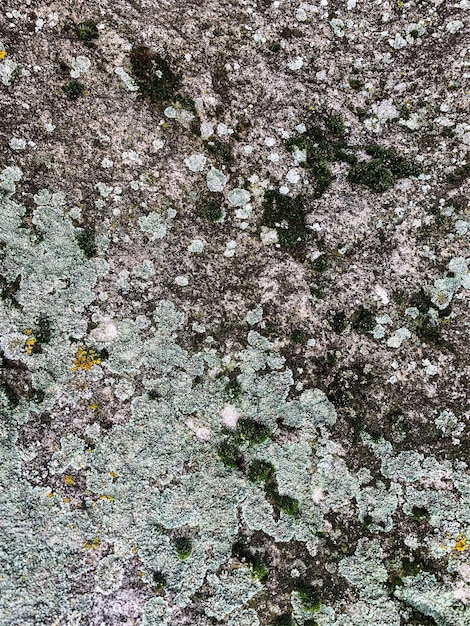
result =
M276 190L264 195L262 225L275 228L278 241L293 256L303 256L309 230L305 224L304 198L291 198Z

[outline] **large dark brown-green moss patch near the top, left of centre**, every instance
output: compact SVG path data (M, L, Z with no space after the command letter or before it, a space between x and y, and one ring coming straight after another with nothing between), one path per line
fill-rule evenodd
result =
M152 103L175 98L181 88L170 64L148 46L134 46L130 54L132 75L141 93Z

